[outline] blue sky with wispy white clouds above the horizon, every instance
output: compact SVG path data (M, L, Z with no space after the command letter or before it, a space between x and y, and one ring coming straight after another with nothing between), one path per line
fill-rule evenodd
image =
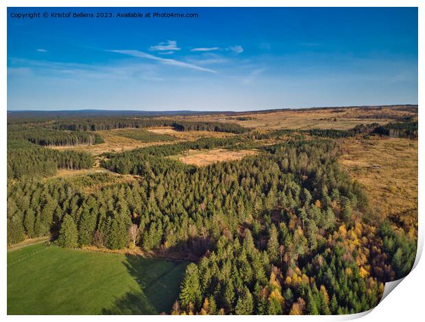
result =
M198 18L12 18L12 12ZM8 8L8 110L417 103L416 8Z

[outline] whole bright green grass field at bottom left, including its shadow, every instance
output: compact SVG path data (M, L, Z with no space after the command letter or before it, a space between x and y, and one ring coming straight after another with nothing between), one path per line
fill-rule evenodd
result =
M8 314L168 313L187 264L44 244L8 251Z

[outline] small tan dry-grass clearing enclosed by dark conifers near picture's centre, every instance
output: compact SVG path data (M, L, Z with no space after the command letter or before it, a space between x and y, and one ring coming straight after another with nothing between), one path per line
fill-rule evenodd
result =
M189 150L186 156L180 156L178 160L186 164L193 164L195 166L206 166L216 162L241 160L245 156L253 156L257 154L254 150L239 150L230 151L226 149L213 149L205 150Z

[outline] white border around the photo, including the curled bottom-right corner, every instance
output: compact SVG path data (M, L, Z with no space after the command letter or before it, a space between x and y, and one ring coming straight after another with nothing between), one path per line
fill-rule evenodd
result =
M193 1L193 0L180 0L180 1L171 1L171 0L145 0L145 1L136 1L136 0L120 0L120 1L112 1L112 0L104 0L104 1L92 1L92 0L74 0L74 1L53 1L53 0L39 0L39 1L29 1L29 0L3 0L1 1L1 6L3 7L3 11L0 14L0 26L1 26L1 53L0 53L0 74L1 82L0 86L0 101L1 101L1 137L0 143L1 148L3 149L3 158L0 160L1 164L1 178L3 184L1 185L1 202L3 205L3 218L1 220L1 229L0 235L1 240L3 240L3 245L6 245L6 233L5 233L5 209L6 209L6 106L7 106L7 88L5 86L7 82L7 40L6 40L6 8L9 7L238 7L238 6L247 6L247 7L419 7L419 73L418 73L418 81L419 81L419 91L418 91L418 104L421 106L421 103L424 98L424 21L425 21L425 5L422 1L419 0L345 0L345 1L335 1L335 0L322 0L322 1L314 1L314 0L301 0L301 1L289 1L289 0L281 0L281 1L273 1L273 0L263 0L263 1L255 1L255 0L246 0L246 1L231 1L231 0L215 0L215 1ZM422 90L422 91L421 91ZM422 112L421 107L419 108L420 120L422 120ZM419 229L419 241L418 241L418 256L419 259L420 253L422 253L423 243L424 243L424 227L423 227L423 214L421 214L421 210L424 209L424 199L423 197L423 180L425 179L424 175L424 151L421 147L421 143L424 138L422 122L419 123L419 134L420 134L420 145L419 145L419 221L420 221L420 229ZM5 247L5 246L3 246ZM1 254L1 312L3 315L6 315L6 296L7 296L7 283L6 283L6 252L3 251ZM422 308L424 307L424 295L422 294L425 285L425 264L424 260L416 262L417 267L413 269L413 271L403 280L402 283L397 287L396 292L392 292L391 295L385 297L383 301L369 314L366 314L362 319L363 321L419 321L423 319ZM364 315L364 314L360 314ZM355 319L359 317L358 314L356 316L334 316L334 317L204 317L204 319L244 319L245 321L253 321L253 320L273 320L276 319L290 319L294 321L297 319L298 321L341 321L345 319ZM422 318L421 318L422 317ZM10 321L21 321L21 319L26 319L25 317L7 317ZM33 316L29 317L32 321L57 321L58 317L56 316ZM62 316L60 319L64 321L73 321L75 317L73 316ZM82 321L93 321L93 319L103 319L104 321L113 321L116 317L90 317L90 316L82 316L77 319L81 319ZM167 319L167 317L163 316L149 316L149 317L125 317L124 319L131 319L132 321L140 321L140 319L149 319L149 321L158 321L160 319ZM172 319L178 319L183 321L188 319L188 317L173 317ZM191 319L191 318L189 318ZM193 318L196 319L196 318Z

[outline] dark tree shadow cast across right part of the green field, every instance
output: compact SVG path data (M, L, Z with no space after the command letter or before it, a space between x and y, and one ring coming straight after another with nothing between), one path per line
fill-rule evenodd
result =
M134 277L140 291L130 291L116 298L112 308L104 308L101 314L170 312L173 302L178 298L180 283L189 263L126 255L123 264Z

